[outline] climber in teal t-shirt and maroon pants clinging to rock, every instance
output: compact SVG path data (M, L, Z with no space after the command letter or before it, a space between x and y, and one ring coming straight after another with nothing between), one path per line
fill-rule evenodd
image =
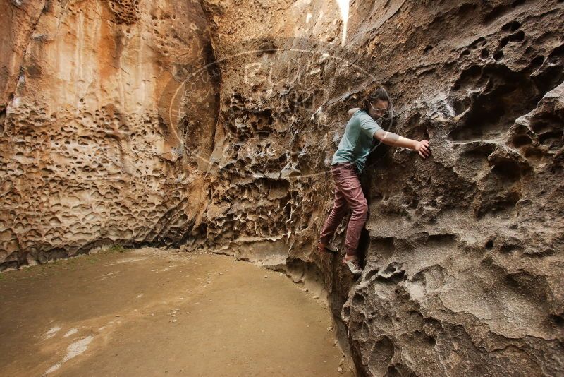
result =
M372 138L387 145L410 148L416 150L422 158L429 156L429 141L416 141L403 138L396 133L384 131L376 120L386 116L390 109L390 97L384 88L363 95L362 109L355 108L348 111L350 120L345 128L338 149L331 160L331 174L335 180L335 201L331 214L321 229L317 251L336 253L336 249L329 244L341 220L345 217L347 208L353 213L348 223L345 237L345 257L343 264L347 265L354 275L362 273L362 268L356 256L360 232L364 227L368 214L368 205L359 176L364 168L364 162L370 152Z

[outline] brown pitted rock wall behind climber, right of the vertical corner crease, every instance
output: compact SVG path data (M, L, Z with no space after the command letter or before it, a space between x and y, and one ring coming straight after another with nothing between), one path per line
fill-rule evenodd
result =
M224 59L212 198L226 209L207 213L207 242L287 248L295 280L324 280L362 375L563 373L563 4L351 1L344 46L332 2L204 9ZM386 126L433 156L370 157L353 282L314 245L346 110L373 80L393 97Z

